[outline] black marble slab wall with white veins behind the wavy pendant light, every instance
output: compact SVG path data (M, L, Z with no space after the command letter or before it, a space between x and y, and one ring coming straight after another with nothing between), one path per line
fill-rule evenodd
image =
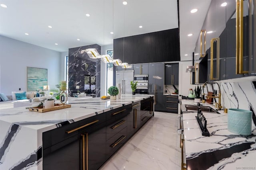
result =
M81 50L94 48L100 54L100 45L86 45L68 49L68 96L72 92L84 91L84 75L96 76L96 97L100 97L100 59L90 59L87 53L80 53ZM86 64L89 65L88 68ZM79 86L79 89L76 89Z

